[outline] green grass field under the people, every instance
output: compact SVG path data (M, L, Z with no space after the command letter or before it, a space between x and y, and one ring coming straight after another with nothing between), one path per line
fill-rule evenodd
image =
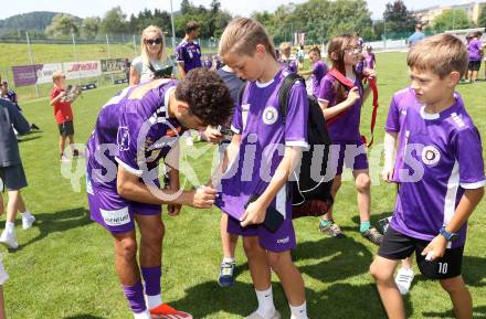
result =
M1 65L1 64L0 64ZM393 92L408 85L405 55L378 54L380 105L377 142L371 152L380 152L383 124ZM74 105L75 140L85 142L103 104L122 87L85 92ZM459 85L466 107L486 136L486 82ZM109 234L89 221L84 180L73 191L63 178L57 155L57 126L46 99L23 103L29 120L42 132L25 137L20 148L29 188L23 191L30 211L38 222L22 231L18 221L19 249L4 253L10 279L4 285L7 311L12 319L128 319L133 318L124 299L114 269L114 248ZM370 102L364 107L362 132L369 129ZM192 160L201 182L209 177L212 152L198 143L203 157ZM214 150L213 147L210 150ZM486 153L485 153L486 155ZM75 166L76 163L73 163ZM83 171L78 162L73 170ZM388 216L393 210L394 187L379 182L379 163L371 163L373 180L372 221ZM66 172L64 172L65 174ZM349 173L349 172L348 172ZM317 220L295 222L298 246L296 265L304 275L309 317L314 319L385 318L373 281L368 274L377 247L358 233L356 191L350 174L337 198L335 220L347 236L342 240L324 237L317 231ZM468 241L463 273L474 298L475 318L486 318L486 242L484 230L486 201L469 221ZM220 212L186 208L177 217L163 213L162 298L172 306L201 319L244 318L256 307L254 290L245 257L239 243L236 249L237 281L231 288L216 284L221 245ZM4 222L0 223L3 228ZM418 272L415 267L415 272ZM452 305L437 281L416 276L411 294L405 298L409 318L453 318ZM282 287L274 276L276 307L283 318L289 318Z

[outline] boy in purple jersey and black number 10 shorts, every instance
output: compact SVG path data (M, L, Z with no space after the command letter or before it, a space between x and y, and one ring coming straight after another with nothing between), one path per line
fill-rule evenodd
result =
M400 181L400 190L370 273L388 317L405 318L393 273L400 259L415 252L420 272L448 293L456 318L472 318L461 267L467 219L486 180L479 132L454 94L467 50L454 35L435 35L415 44L406 63L413 91L394 96L403 109L390 111L387 120L387 143L398 140L403 160L388 164L383 173Z

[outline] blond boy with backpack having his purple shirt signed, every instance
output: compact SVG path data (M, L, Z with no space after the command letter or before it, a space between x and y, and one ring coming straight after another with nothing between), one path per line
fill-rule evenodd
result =
M221 36L219 52L249 81L233 116L234 136L221 166L222 195L216 201L229 214L228 231L243 236L258 300L246 319L281 318L273 302L271 268L284 287L290 318L307 319L304 280L290 256L296 243L292 200L286 196L288 177L307 147L307 93L303 83L292 87L284 124L278 89L287 72L276 61L265 29L254 20L234 19ZM262 224L271 213L283 220L274 232Z

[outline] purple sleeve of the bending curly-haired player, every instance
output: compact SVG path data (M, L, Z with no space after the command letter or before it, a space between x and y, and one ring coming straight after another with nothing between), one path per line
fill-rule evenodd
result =
M116 157L118 164L123 166L128 172L141 176L142 171L137 162L138 137L144 120L136 113L124 113L120 116L116 143L119 153Z

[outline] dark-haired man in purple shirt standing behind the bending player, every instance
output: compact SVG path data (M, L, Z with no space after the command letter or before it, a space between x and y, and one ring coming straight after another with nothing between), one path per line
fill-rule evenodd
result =
M201 47L196 39L199 36L199 24L189 21L186 24L186 36L176 47L177 68L181 78L184 78L189 71L201 67Z

